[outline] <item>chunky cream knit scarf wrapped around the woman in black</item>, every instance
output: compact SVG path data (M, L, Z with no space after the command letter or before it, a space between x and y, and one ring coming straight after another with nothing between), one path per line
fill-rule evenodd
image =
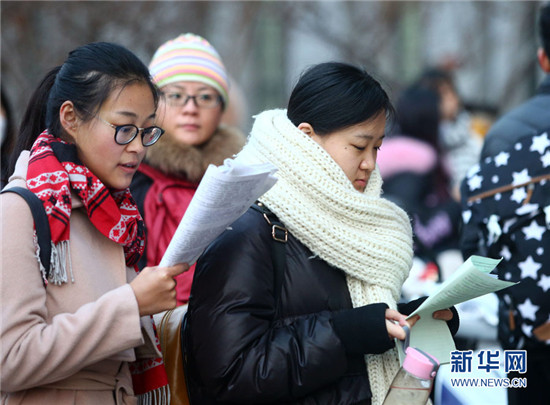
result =
M346 273L354 307L385 302L396 308L412 263L406 213L380 197L378 169L364 193L354 189L330 155L286 116L286 110L256 117L238 155L250 163L271 162L278 181L260 200L315 255ZM397 350L366 355L373 405L380 405L399 368Z

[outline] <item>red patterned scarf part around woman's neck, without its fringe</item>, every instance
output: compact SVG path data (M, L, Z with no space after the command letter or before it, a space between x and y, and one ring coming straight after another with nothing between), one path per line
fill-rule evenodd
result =
M71 190L82 200L92 224L124 246L126 264L139 260L145 227L130 190L111 191L77 157L76 148L44 131L31 149L27 187L44 204L54 245L69 240Z

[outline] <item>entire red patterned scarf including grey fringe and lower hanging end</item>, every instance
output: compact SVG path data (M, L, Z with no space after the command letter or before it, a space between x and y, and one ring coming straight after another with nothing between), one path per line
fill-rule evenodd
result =
M82 200L92 224L107 238L124 247L126 265L138 271L136 263L145 246L145 226L130 190L109 190L78 159L74 145L47 131L40 134L31 148L27 187L42 200L48 215L53 244L50 282L61 285L68 279L65 266L68 263L70 269L70 259L67 258L71 191ZM42 271L44 277L45 270ZM154 332L160 351L156 329ZM136 361L130 369L134 393L140 403L170 402L162 358Z

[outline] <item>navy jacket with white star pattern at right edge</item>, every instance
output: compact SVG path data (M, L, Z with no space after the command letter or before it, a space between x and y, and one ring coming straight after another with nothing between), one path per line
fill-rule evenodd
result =
M505 349L550 344L549 131L520 138L510 150L472 167L462 182L461 249L503 258L499 340Z

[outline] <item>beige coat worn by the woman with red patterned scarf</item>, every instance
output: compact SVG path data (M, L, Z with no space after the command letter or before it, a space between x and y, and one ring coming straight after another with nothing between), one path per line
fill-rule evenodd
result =
M7 187L25 187L28 152ZM123 249L91 224L73 198L74 282L44 287L27 203L0 196L2 404L131 404L128 362L160 357L150 318L140 318ZM70 274L69 274L70 278ZM143 327L145 325L145 327Z

